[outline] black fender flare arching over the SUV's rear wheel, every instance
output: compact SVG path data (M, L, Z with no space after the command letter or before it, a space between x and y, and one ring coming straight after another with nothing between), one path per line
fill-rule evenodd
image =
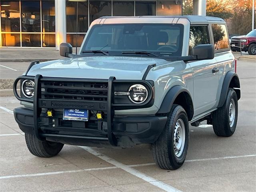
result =
M232 81L232 79L234 79L234 80ZM240 81L239 81L238 75L233 71L227 72L227 74L224 77L222 89L220 92L220 100L219 100L217 108L220 108L223 106L223 104L226 100L226 97L228 95L228 88L240 88ZM234 89L234 90L236 92L237 99L239 100L241 97L240 89Z

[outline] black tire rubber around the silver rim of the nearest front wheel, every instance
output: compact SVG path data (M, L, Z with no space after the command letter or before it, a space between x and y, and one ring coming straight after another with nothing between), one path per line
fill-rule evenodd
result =
M170 112L168 113L168 119L166 126L160 134L158 140L152 144L152 154L156 164L167 170L176 170L185 161L187 150L188 150L188 116L180 105L173 105ZM174 131L176 122L182 119L185 127L185 140L184 149L179 157L174 152Z

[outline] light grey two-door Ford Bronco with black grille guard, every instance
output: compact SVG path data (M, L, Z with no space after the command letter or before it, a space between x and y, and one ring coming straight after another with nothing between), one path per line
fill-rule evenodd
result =
M24 105L14 117L35 156L64 144L151 144L156 164L174 170L189 124L207 120L222 137L236 130L240 83L221 18L102 17L79 54L62 43L60 55L69 58L32 62L14 82Z

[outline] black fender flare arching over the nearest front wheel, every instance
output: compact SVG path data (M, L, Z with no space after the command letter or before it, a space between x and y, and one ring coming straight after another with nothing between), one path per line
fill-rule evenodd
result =
M188 100L186 99L186 102L187 102L186 105L189 106L189 109L187 108L187 110L189 110L189 113L186 109L185 110L188 115L188 120L191 120L194 115L194 107L193 107L192 97L191 97L190 92L186 88L184 88L180 85L175 85L172 88L170 88L170 90L165 95L164 100L162 101L162 104L157 113L165 114L165 113L170 112L172 105L174 104L174 101L176 100L178 95L181 94L182 92L185 92L190 97Z

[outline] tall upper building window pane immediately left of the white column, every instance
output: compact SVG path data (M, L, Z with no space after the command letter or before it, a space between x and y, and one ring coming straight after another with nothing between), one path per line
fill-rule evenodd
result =
M55 32L54 0L42 1L42 32Z

